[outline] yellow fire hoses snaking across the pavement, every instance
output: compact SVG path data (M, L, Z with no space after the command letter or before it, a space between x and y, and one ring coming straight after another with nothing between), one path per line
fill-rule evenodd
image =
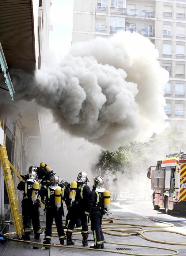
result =
M159 225L158 227L173 227L174 226L174 224L172 224L172 223L166 223L164 221L159 221L159 220L157 221L157 220L152 219L152 218L135 218L135 219L114 218L114 217L112 217L113 213L111 213L111 212L109 212L109 213L110 213L110 219L115 219L115 220L119 220L119 221L136 221L136 220L139 220L139 219L150 219L151 221L161 223L161 225ZM181 236L186 236L186 234L182 234L180 232L171 231L171 230L163 230L163 229L159 230L159 229L157 229L157 226L155 226L155 225L144 225L144 224L135 224L135 223L127 223L127 222L110 223L110 219L108 219L108 218L103 218L103 219L105 220L105 222L102 223L102 231L103 231L103 233L108 234L110 236L124 237L124 236L139 235L139 236L143 237L145 240L148 240L148 241L151 241L151 242L156 242L156 243L161 243L161 244L169 244L169 245L186 245L186 243L154 240L154 239L148 238L147 236L144 235L145 232L168 232L168 233L179 234ZM125 226L125 227L121 228L121 226ZM52 236L53 237L58 237L57 236L57 230L55 229L55 227L56 226L53 225ZM90 229L90 224L88 225L88 227ZM156 227L156 229L143 230L143 227ZM42 228L45 228L45 227L42 227ZM78 230L78 229L75 229L75 230ZM116 234L114 232L118 232L118 233L122 233L122 234ZM67 245L56 245L56 244L51 244L51 245L47 244L46 245L46 244L43 244L43 243L40 243L40 242L24 241L24 240L19 240L19 239L16 239L16 238L12 238L12 237L10 237L10 235L12 235L12 234L15 234L15 232L4 234L4 236L8 240L17 241L17 242L24 242L24 243L28 243L28 244L34 244L34 245L40 245L40 246L44 246L44 247L55 246L55 247L62 247L62 248L85 249L85 250L119 253L119 254L123 254L123 255L135 255L135 256L172 256L172 255L178 255L178 253L179 253L179 251L177 251L175 249L170 249L170 248L165 248L165 247L151 246L151 245L140 245L140 244L125 244L125 243L118 243L118 242L111 242L111 241L106 241L106 244L162 249L162 250L166 250L166 251L171 251L172 253L167 253L167 254L149 254L149 253L148 254L141 254L141 253L130 253L130 252L114 251L114 250L109 250L109 249L93 249L93 248L86 248L86 247L80 247L80 246L67 246ZM81 234L81 233L80 232L73 233L73 235L79 235L79 234ZM73 240L81 240L81 239L73 238ZM90 240L90 241L93 241L93 240Z

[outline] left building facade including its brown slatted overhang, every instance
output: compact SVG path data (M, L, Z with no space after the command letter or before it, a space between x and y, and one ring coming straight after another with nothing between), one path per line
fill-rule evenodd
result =
M11 77L12 69L33 74L41 68L43 51L49 45L50 5L50 0L0 2L0 25L3 28L0 31L3 50L3 61L0 62L0 121L8 159L20 174L28 173L30 165L42 162L41 117L35 101L12 103L13 95L8 97L11 91L5 84L4 74L10 72ZM3 62L8 66L4 72ZM6 93L6 102L3 101L3 93ZM22 193L16 189L20 180L14 172L12 177L16 195L21 200ZM0 164L0 217L9 214L6 211L9 208Z

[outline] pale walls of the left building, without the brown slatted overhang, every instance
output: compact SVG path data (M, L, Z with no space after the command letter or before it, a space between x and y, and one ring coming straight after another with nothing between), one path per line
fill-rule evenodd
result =
M50 0L42 0L42 7L39 7L39 0L33 1L33 18L35 63L36 67L40 68L38 62L41 61L43 51L49 45ZM10 111L8 110L10 102L7 102L7 106L4 107L0 104L0 121L4 129L8 159L20 174L26 174L30 165L39 165L39 162L42 162L40 115L34 101L15 102L13 112L11 107ZM12 178L17 198L22 200L22 192L17 191L20 180L14 172L12 172ZM0 164L0 217L6 214L6 209L10 209L10 204Z

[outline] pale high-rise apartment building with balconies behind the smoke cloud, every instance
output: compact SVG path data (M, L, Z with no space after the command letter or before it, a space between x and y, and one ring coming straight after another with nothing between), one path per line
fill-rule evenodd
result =
M164 89L171 125L186 128L186 0L74 0L72 43L134 31L159 51L170 78Z

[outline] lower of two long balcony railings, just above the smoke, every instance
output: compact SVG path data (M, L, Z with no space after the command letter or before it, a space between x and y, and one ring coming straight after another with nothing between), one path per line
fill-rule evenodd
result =
M114 34L119 31L130 31L131 33L136 32L144 37L155 37L155 30L130 29L128 27L110 27L110 34Z

